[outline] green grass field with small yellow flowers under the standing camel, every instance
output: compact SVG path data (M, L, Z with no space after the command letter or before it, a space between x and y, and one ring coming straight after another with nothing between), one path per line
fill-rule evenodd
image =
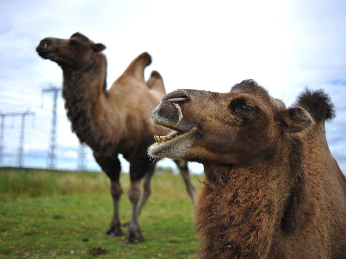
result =
M192 176L198 191L203 176ZM129 175L121 175L121 220L131 216ZM103 173L0 169L0 258L196 258L194 210L180 175L156 174L140 217L143 243L103 233L112 218ZM104 250L103 250L104 249Z

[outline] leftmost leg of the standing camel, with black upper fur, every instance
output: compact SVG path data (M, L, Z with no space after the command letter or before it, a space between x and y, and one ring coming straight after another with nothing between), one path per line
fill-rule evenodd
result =
M110 223L110 228L105 232L109 236L122 236L122 230L120 229L120 218L119 218L119 202L120 196L122 194L122 189L119 183L120 176L120 161L116 157L113 159L111 157L100 156L94 152L94 157L96 162L101 166L102 170L110 178L111 186L110 193L113 199L113 218Z

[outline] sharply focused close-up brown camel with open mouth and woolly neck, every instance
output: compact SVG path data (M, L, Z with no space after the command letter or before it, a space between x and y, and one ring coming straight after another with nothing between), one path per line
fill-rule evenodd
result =
M173 132L149 153L203 163L202 258L346 258L346 179L324 128L333 117L322 90L286 108L253 80L163 97L151 119Z

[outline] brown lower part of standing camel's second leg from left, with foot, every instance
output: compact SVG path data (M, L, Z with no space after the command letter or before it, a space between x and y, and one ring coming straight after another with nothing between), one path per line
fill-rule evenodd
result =
M138 244L144 241L142 234L140 234L140 228L138 224L138 213L137 213L137 205L140 197L140 179L132 180L131 186L129 190L129 199L131 202L132 209L132 218L130 223L128 224L128 232L127 236L124 240L124 243L129 244Z

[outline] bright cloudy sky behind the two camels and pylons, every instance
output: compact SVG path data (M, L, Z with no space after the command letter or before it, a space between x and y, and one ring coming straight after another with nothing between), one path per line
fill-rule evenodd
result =
M290 106L305 87L325 89L336 109L326 123L332 155L346 173L346 2L12 0L0 2L0 112L25 116L23 167L46 167L53 94L62 70L35 48L46 37L80 32L107 48L108 87L140 53L160 72L166 92L228 92L255 79ZM79 142L71 132L61 93L57 100L56 168L78 169ZM1 123L1 122L0 122ZM22 117L3 120L1 166L18 166ZM100 171L90 148L86 168ZM121 159L123 171L128 163ZM168 160L158 163L172 166ZM190 163L193 173L203 167Z

